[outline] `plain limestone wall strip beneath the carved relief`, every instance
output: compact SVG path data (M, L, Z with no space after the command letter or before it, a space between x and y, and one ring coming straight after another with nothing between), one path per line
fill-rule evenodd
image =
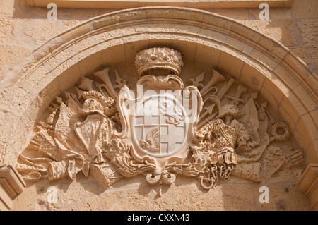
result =
M261 186L269 188L269 203L259 202ZM57 203L49 204L47 199L52 199L54 191ZM73 183L35 183L14 204L13 210L312 210L293 178L260 184L231 177L204 190L192 178L178 177L172 186L161 187L147 185L143 176L138 176L102 190L93 178L80 177Z

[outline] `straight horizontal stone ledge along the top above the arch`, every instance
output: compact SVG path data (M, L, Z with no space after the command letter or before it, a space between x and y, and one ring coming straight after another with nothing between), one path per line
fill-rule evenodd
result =
M160 0L27 0L30 6L42 6L47 7L49 3L57 4L57 7L61 8L136 8L143 6L179 6L179 7L190 7L190 8L259 8L259 4L266 3L269 7L275 8L290 8L293 6L293 0L213 0L213 1L160 1Z

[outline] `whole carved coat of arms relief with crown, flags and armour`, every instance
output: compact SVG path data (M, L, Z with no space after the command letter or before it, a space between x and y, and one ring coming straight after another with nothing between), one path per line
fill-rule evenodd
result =
M110 68L82 78L52 102L16 169L29 181L74 180L81 171L104 188L138 174L171 184L182 174L209 189L230 174L259 182L303 161L300 150L277 144L289 128L257 92L247 96L214 70L205 84L201 73L185 86L182 65L179 51L152 48L136 55L134 88L117 71L113 84Z

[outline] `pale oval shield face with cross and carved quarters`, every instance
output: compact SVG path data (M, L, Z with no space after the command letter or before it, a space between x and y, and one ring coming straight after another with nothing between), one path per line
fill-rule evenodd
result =
M165 157L182 148L187 136L184 109L172 97L155 95L139 104L135 141L146 154Z

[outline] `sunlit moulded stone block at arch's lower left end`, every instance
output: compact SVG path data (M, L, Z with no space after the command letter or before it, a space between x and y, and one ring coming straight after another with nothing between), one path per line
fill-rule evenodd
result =
M0 210L10 210L24 188L25 182L13 166L0 165Z

